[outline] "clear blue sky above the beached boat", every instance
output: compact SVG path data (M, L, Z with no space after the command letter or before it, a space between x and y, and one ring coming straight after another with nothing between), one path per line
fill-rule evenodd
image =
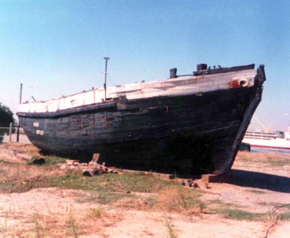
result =
M264 64L255 116L273 130L290 126L289 1L0 0L0 102L14 113L20 83L23 101L102 87L104 56L108 86L199 63Z

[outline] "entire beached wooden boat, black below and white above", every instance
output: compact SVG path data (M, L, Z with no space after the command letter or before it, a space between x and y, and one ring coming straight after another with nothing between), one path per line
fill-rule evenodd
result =
M264 80L264 65L202 68L190 76L173 69L167 80L22 103L17 115L44 151L99 153L110 165L154 171L222 174L233 164Z

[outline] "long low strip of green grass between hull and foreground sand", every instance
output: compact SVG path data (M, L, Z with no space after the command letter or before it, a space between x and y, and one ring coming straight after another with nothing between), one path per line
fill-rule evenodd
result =
M110 186L111 184L114 186ZM166 188L181 187L177 182L156 179L152 176L142 174L116 175L108 173L99 176L84 177L79 172L71 171L62 176L37 176L25 181L8 180L4 183L0 182L0 192L21 193L33 188L45 187L81 189L90 192L92 195L80 197L77 202L96 201L101 204L111 204L123 198L138 198L138 196L131 193L119 193L118 189L114 188L116 186L136 192L156 192ZM191 199L190 197L187 198L189 204L195 201L191 201ZM150 200L147 203L150 204Z

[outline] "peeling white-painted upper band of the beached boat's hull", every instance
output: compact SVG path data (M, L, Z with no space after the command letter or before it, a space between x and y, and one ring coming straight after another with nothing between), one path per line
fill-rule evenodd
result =
M231 83L239 80L248 80L246 87L254 86L256 69L224 72L218 74L185 76L142 83L126 84L123 86L107 87L106 98L125 97L126 99L142 99L159 96L181 96L190 94L203 94L210 91L224 90L231 87ZM18 112L44 113L72 109L92 105L104 101L104 88L84 91L63 98L43 102L22 103Z

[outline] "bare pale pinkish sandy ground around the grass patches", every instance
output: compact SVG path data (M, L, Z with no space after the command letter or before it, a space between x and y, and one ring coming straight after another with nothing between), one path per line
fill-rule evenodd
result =
M210 183L206 189L201 180L196 180L200 186L196 189L206 191L200 198L202 201L220 200L224 204L233 204L233 209L265 213L271 211L275 203L289 203L289 175L289 166L267 168L261 164L238 160L234 163L227 182ZM260 193L253 193L252 190ZM97 207L97 204L89 202L76 202L76 198L85 193L59 188L40 188L26 193L1 194L0 237L21 237L21 226L33 226L33 214L65 218L70 210L75 214L82 214L88 208ZM164 216L168 217L178 237L265 237L268 228L274 222L271 217L258 222L232 220L222 215L211 214L187 217L175 213L164 214L109 206L106 206L106 209L118 213L122 219L103 226L101 232L79 237L167 237ZM279 212L286 212L283 209ZM287 211L289 212L289 209ZM4 224L10 227L10 232L5 232ZM269 230L268 237L288 238L289 234L290 221L279 220Z

